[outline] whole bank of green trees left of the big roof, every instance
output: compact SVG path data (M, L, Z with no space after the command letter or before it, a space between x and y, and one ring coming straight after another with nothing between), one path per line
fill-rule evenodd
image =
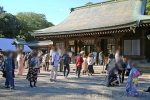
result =
M16 16L6 13L0 6L0 37L22 38L26 41L36 40L31 36L33 30L53 26L46 20L44 14L20 12Z

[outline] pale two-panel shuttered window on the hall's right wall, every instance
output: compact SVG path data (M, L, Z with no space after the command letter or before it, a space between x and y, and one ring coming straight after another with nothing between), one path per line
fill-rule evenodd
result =
M124 55L140 55L140 39L124 40Z

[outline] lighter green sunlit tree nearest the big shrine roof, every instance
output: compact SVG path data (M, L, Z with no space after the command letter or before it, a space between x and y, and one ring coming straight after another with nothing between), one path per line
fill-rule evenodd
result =
M39 30L53 26L51 22L46 20L44 14L20 12L16 15L16 18L21 22L20 32L17 37L25 38L26 41L36 40L30 34L33 30Z

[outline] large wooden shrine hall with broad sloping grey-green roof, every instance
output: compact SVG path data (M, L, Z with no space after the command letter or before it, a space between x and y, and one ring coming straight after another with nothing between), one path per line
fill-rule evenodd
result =
M114 0L71 8L60 24L36 30L32 36L47 38L53 45L88 54L96 50L107 56L120 49L122 55L150 57L150 16L145 15L146 0Z

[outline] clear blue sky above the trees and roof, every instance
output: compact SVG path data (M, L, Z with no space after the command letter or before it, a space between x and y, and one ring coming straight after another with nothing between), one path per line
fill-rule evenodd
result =
M0 0L0 6L14 15L18 12L45 14L48 21L57 25L67 18L70 8L102 1L106 0Z

